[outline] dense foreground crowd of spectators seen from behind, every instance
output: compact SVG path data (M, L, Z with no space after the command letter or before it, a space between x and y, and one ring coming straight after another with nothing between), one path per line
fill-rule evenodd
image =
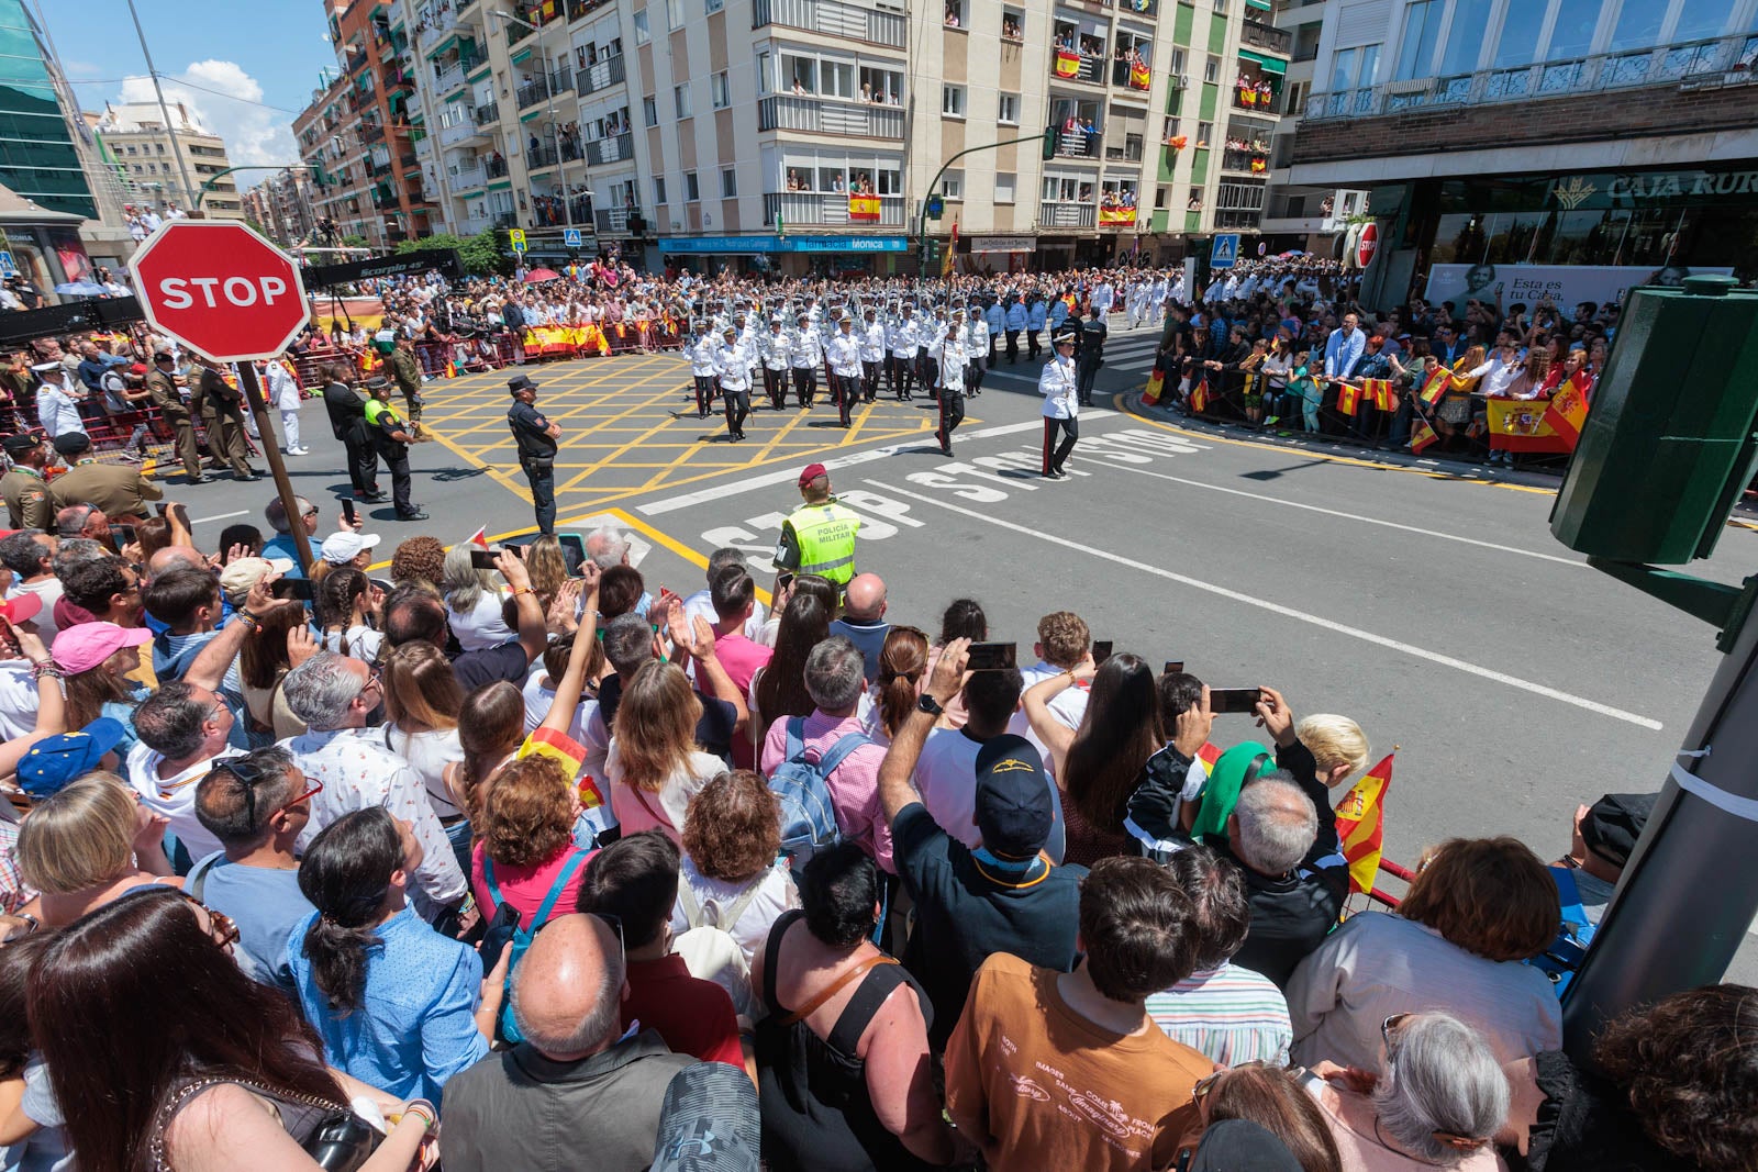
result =
M1758 1167L1758 991L1561 1053L1535 961L1638 798L1566 900L1452 838L1347 914L1368 736L1275 687L1253 733L1067 610L301 515L309 603L280 510L0 539L16 1167Z

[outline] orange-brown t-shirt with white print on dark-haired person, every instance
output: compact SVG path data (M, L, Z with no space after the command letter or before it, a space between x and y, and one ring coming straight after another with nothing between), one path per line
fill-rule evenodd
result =
M1169 1167L1215 1063L1146 1014L1134 1035L1093 1024L1058 975L1006 952L983 961L946 1045L948 1112L997 1170Z

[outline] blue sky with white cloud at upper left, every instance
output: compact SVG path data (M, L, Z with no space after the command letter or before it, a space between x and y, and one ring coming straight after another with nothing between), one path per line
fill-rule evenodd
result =
M153 100L125 0L30 2L47 19L84 109ZM183 100L223 135L234 163L297 160L294 112L311 100L318 70L336 63L323 40L323 0L135 0L135 7L165 100Z

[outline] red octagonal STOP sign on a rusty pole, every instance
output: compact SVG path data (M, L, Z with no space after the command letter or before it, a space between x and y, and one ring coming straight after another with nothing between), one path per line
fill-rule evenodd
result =
M272 358L306 323L299 265L243 223L167 223L128 271L146 320L214 362Z

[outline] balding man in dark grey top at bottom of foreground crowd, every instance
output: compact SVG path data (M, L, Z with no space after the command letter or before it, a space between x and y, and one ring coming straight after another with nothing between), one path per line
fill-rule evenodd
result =
M652 1030L621 1037L617 931L573 914L533 938L512 977L524 1040L447 1082L440 1160L448 1172L652 1163L666 1086L696 1061Z

